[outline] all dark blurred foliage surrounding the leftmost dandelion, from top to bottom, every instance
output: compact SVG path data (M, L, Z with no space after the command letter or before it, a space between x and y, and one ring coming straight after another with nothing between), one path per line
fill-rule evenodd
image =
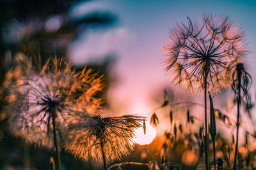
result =
M0 0L0 169L49 169L51 150L25 144L24 139L10 133L8 113L3 110L5 89L4 76L14 67L14 58L22 53L33 58L33 64L44 64L49 57L66 57L68 47L88 29L108 29L116 23L116 16L109 11L84 11L74 16L76 7L88 0ZM113 81L109 74L113 56L106 56L101 63L87 66L92 74L104 76L103 90L96 94L102 97ZM81 71L81 68L76 68ZM106 101L102 105L106 105ZM30 156L29 156L30 155ZM75 160L68 153L61 153L63 169L93 169L92 164ZM26 160L26 161L25 161ZM25 162L24 162L25 161ZM98 167L99 168L99 167Z

